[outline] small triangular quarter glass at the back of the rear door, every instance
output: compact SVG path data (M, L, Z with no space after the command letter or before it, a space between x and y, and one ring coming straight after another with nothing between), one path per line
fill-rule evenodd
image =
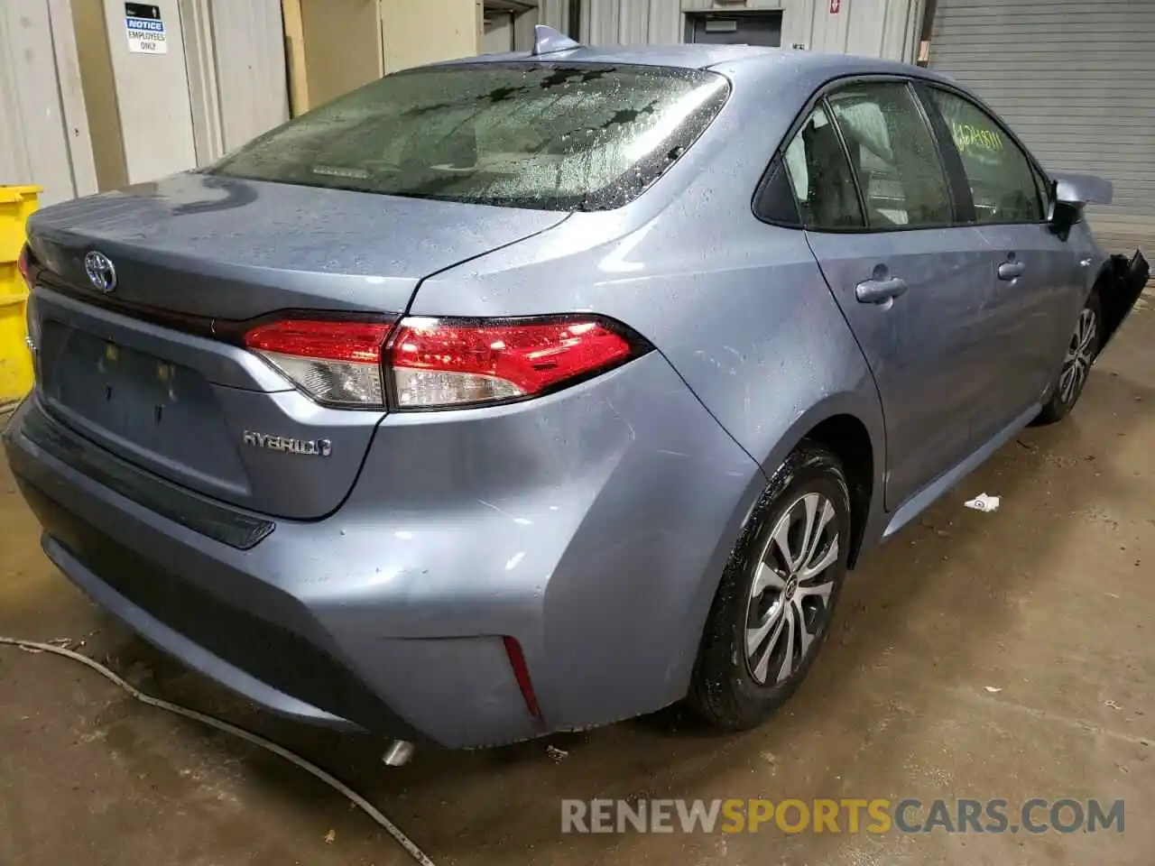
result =
M795 135L784 162L807 229L858 229L865 224L842 142L821 107Z

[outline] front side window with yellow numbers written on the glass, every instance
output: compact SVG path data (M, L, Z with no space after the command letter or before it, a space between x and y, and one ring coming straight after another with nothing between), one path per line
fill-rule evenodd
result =
M931 94L962 157L977 222L1041 222L1038 180L1027 155L974 103L937 88Z

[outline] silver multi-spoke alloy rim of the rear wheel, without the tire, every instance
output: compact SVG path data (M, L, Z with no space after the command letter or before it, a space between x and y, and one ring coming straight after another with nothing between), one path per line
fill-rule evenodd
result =
M821 493L805 493L778 518L746 602L746 666L759 685L782 682L829 617L839 521Z

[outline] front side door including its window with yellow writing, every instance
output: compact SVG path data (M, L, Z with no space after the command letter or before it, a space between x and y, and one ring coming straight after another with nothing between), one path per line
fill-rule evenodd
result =
M1045 219L1042 172L1000 122L963 94L921 90L959 155L974 222L988 248L988 339L1004 361L973 410L976 442L1041 402L1059 372L1086 292L1078 252ZM944 137L947 137L944 135Z

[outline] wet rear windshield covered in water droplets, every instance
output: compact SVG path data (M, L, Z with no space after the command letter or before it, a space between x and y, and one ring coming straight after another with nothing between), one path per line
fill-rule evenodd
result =
M210 173L424 199L605 210L717 114L701 69L470 64L389 75L226 156Z

